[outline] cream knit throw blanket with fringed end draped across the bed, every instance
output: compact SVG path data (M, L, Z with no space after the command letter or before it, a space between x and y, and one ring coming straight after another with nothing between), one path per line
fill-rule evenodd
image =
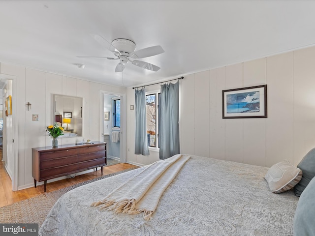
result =
M190 156L174 155L166 160L146 166L142 172L129 178L125 183L108 194L103 200L92 206L127 214L144 213L144 219L150 220L158 206L164 190L173 181L177 173Z

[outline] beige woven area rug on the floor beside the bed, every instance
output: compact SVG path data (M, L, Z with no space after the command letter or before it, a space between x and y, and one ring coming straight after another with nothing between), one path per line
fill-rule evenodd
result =
M106 176L96 177L94 179L77 183L54 192L44 193L21 202L17 202L5 207L0 207L0 223L38 223L40 227L50 209L64 193L84 184L91 183L99 179L116 176L118 174L137 168L138 167L133 167Z

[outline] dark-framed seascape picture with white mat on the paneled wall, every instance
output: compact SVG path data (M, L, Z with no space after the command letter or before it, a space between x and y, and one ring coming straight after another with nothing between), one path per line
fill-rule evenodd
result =
M222 118L267 118L267 85L222 90Z

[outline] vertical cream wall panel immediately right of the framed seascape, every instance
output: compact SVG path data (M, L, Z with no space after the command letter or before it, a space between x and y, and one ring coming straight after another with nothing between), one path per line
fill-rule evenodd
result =
M284 159L293 164L293 52L268 57L266 62L266 165Z

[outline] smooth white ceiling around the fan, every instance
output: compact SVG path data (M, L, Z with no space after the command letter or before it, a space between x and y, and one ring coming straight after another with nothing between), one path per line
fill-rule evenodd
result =
M0 62L132 87L315 44L315 1L0 0ZM158 72L118 60L91 34L127 38ZM85 64L84 69L75 66Z

